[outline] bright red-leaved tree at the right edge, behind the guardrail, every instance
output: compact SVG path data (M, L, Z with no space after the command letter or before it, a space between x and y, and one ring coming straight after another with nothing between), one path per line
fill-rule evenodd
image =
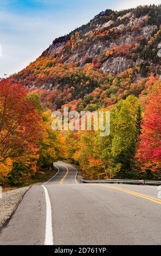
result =
M145 109L137 157L145 168L161 167L161 83L154 86Z

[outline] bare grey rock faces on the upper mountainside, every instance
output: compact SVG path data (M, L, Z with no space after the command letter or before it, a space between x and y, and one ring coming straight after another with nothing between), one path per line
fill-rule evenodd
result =
M85 29L72 33L75 39L75 47L71 47L66 53L66 42L71 41L65 37L59 42L53 41L53 44L47 50L47 56L58 54L64 63L78 63L80 66L85 65L83 59L96 58L100 59L102 54L113 47L125 47L125 45L139 45L141 40L148 40L151 34L156 31L157 25L148 25L148 15L136 17L133 12L118 16L115 20L109 19L102 23L102 17L106 17L106 11L97 15ZM100 23L99 23L100 22ZM119 24L119 23L120 24ZM117 25L117 26L115 26ZM77 38L76 38L76 33ZM105 34L103 37L102 34ZM107 36L112 33L112 36ZM97 36L98 35L101 35ZM117 36L115 36L117 35ZM98 37L98 38L97 38ZM104 39L105 38L105 39ZM140 40L140 41L139 41ZM114 54L115 55L115 54ZM144 62L144 60L142 60ZM100 70L106 71L109 75L117 75L131 66L140 63L139 60L131 59L124 56L112 56L101 64Z

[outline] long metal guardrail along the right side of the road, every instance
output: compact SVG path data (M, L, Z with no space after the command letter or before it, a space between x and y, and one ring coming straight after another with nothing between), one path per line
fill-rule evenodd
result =
M155 180L115 180L115 179L109 179L109 180L85 180L82 179L82 182L84 183L129 183L129 184L160 184L161 181L155 181Z

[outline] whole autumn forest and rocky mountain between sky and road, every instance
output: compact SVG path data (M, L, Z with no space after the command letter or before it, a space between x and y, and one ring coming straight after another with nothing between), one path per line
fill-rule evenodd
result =
M86 179L161 178L161 6L106 10L0 81L0 185L78 164ZM110 135L53 131L52 111L110 111Z

